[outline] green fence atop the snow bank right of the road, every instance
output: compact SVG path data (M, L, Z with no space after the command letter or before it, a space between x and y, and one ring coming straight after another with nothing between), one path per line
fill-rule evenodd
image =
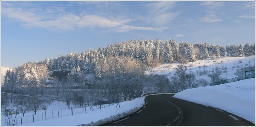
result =
M225 83L231 83L231 82L236 82L236 81L240 81L243 79L250 79L250 78L255 78L255 70L249 70L249 71L245 71L245 75L244 76L238 76L232 79L225 79L225 80L221 80L215 83L210 83L210 86L215 86L215 85L220 85L220 84L225 84Z

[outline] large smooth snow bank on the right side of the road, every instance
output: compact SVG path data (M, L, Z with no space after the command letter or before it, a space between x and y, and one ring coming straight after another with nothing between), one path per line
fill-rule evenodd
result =
M219 108L255 124L255 78L187 89L173 97Z

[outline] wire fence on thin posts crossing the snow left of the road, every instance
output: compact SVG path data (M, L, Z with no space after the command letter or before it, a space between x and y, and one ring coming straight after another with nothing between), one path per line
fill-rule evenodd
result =
M24 117L16 117L15 120L15 125L19 126L24 123L32 123L36 121L47 121L52 118L60 118L64 116L69 116L69 115L75 115L75 114L82 114L82 113L87 113L95 110L104 110L104 108L109 107L111 105L116 105L118 106L119 102L123 102L123 98L116 98L113 100L108 100L108 101L101 101L97 102L96 105L86 105L83 106L82 108L70 108L66 110L40 110L37 111L36 114L33 115L26 115ZM120 107L120 105L119 105ZM11 119L14 119L15 116L10 116ZM9 121L9 118L7 116L4 117L5 122Z

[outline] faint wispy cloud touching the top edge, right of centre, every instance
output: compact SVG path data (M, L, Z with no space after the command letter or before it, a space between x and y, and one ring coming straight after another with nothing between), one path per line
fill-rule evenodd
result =
M158 1L146 5L151 22L158 26L165 25L177 17L179 12L170 12L174 6L176 6L176 1Z

